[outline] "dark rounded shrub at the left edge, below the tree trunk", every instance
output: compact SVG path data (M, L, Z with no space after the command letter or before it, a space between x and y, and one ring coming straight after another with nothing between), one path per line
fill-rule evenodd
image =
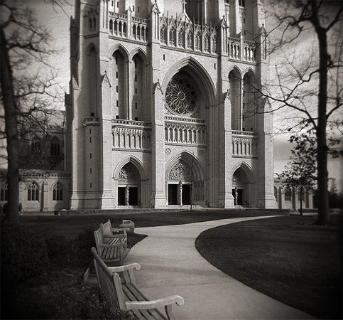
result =
M1 287L34 277L48 265L44 240L20 223L1 226Z

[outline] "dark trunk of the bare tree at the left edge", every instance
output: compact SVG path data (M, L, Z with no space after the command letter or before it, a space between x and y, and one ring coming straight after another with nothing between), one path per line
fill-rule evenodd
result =
M5 133L7 141L7 183L8 183L8 206L6 220L15 221L18 219L19 207L19 140L18 140L18 114L16 100L13 91L13 75L9 60L4 30L1 28L1 95L5 110Z

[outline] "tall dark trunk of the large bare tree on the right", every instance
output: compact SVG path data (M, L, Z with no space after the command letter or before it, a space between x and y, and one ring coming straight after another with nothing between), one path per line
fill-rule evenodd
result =
M313 7L317 8L314 4ZM318 122L317 122L317 188L318 188L318 215L317 225L327 225L329 223L329 192L327 190L327 64L329 55L327 54L327 34L318 21L318 13L314 13L313 25L316 28L320 53L319 65L319 92L318 92Z

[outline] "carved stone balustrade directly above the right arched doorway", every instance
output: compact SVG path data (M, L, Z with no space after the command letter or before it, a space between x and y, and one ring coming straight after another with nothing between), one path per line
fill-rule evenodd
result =
M258 156L258 137L256 132L232 132L232 156Z

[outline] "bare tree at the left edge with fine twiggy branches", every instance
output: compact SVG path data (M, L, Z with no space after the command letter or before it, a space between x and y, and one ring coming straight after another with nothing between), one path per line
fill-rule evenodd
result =
M28 3L29 4L29 3ZM6 220L18 217L19 139L21 134L40 131L42 117L55 112L60 98L55 75L47 63L55 51L47 29L21 1L1 1L1 103L5 120L8 207ZM1 130L3 128L0 128Z

